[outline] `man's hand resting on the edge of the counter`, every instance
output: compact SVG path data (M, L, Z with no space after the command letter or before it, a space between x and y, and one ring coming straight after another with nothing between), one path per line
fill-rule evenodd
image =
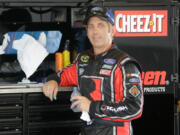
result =
M58 93L58 83L54 80L48 81L43 86L43 93L46 97L49 97L51 101L54 99L56 100L56 96Z

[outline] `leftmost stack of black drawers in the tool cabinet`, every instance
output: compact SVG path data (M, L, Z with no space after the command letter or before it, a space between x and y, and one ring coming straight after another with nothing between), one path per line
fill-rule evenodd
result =
M0 134L23 134L22 94L0 94Z

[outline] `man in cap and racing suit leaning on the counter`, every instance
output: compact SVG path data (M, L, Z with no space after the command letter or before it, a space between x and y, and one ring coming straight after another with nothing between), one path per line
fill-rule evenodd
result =
M140 66L112 42L114 16L109 9L90 8L85 24L92 49L50 76L43 92L53 100L58 86L78 86L82 96L71 98L77 100L71 108L90 114L93 123L84 128L85 135L132 135L131 121L143 108Z

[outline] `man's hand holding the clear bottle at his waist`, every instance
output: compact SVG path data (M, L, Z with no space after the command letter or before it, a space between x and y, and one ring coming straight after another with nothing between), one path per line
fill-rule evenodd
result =
M71 109L77 105L79 111L89 112L91 101L84 96L73 96L71 101L77 100L71 105Z

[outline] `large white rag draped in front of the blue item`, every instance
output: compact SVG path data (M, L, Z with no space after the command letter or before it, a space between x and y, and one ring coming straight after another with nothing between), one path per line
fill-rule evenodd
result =
M43 45L28 34L24 34L19 40L14 40L13 48L17 50L17 59L26 78L29 78L48 56Z

